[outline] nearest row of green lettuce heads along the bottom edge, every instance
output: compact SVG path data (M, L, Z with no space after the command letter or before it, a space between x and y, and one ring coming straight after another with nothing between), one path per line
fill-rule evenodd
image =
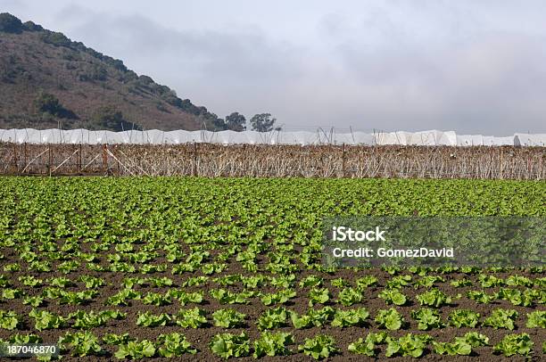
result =
M14 334L8 341L1 343L21 345L42 341L36 334ZM535 353L534 344L527 333L509 333L499 343L492 345L492 352L505 357L515 355L531 357ZM117 346L113 356L120 359L176 358L198 352L186 336L178 332L160 334L155 341L147 339L137 341L128 333L107 333L99 339L89 331L68 332L59 338L57 345L62 354L74 357L106 356L109 352L103 348L104 345ZM297 344L294 335L288 332L263 332L253 342L245 332L218 333L212 337L209 347L216 356L225 359L251 355L254 358L288 356L297 352L314 359L322 359L341 352L335 338L330 335L317 334L304 338L301 344ZM347 350L368 357L382 355L419 358L429 352L447 356L472 356L476 349L488 347L491 347L489 338L478 332L465 333L461 337L454 337L452 341L435 341L434 337L425 333L407 333L394 337L385 332L371 332L365 338L350 343ZM542 353L546 353L546 341L542 342ZM52 356L41 355L38 359L49 360Z

